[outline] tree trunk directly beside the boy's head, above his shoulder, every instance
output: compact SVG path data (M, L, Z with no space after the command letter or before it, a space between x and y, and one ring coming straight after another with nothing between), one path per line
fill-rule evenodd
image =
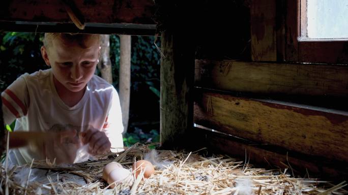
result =
M101 49L100 49L100 60L98 63L98 69L101 72L102 78L108 83L112 84L112 69L110 60L110 36L101 35Z

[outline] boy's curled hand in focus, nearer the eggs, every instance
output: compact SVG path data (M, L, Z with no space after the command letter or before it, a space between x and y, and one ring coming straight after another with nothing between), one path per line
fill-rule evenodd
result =
M102 154L110 150L111 143L105 132L99 131L98 129L88 129L83 132L82 143L89 144L89 153L92 155Z

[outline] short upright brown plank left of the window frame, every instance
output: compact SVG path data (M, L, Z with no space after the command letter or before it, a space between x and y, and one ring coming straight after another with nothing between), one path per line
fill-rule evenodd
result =
M276 61L276 1L253 0L250 7L251 59Z

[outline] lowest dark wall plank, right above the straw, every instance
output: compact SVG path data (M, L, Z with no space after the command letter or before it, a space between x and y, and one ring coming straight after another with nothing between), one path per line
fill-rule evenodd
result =
M194 129L191 139L199 139L200 147L207 147L213 150L215 154L230 155L231 157L247 160L250 164L263 167L265 169L288 169L287 173L294 173L294 176L303 178L330 179L334 181L344 180L348 177L346 164L327 160L324 158L315 158L310 155L297 156L288 150L274 152L260 148L260 145L249 145L243 142L231 139L229 136L209 132L204 129Z

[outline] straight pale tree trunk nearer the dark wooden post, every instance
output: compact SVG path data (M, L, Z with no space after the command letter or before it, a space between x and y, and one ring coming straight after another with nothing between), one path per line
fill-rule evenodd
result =
M120 81L119 95L124 132L127 132L130 100L131 36L120 35Z

